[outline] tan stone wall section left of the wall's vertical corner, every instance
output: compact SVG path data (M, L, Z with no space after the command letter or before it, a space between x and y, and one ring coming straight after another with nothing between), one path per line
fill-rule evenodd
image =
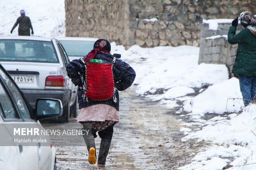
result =
M65 9L67 37L128 42L128 0L65 0Z

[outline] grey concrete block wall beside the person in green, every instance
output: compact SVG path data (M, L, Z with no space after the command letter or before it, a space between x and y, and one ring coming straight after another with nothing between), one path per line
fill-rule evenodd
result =
M208 23L202 23L200 33L200 63L225 64L229 70L230 77L235 56L237 44L228 43L228 30L231 23L218 23L218 29L209 30ZM243 27L238 24L236 33L239 33Z

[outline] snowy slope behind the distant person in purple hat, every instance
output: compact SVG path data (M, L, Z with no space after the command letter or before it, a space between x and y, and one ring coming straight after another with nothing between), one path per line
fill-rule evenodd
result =
M0 36L17 36L17 26L12 34L10 31L20 10L24 9L31 20L33 36L65 36L65 4L64 0L1 0L0 1Z

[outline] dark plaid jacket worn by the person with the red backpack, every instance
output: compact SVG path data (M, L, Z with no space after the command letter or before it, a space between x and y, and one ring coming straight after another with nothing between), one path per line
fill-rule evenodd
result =
M99 52L95 55L94 59L105 61L106 63L111 63L114 59L114 57L111 54L105 54L102 52ZM73 60L69 62L66 66L66 71L68 73L68 76L71 78L73 84L76 86L82 87L82 80L78 72L81 72L83 75L85 75L85 65L80 59ZM116 59L114 65L113 65L113 77L114 77L114 83L115 87L118 91L123 91L126 88L130 87L133 84L133 81L135 79L135 71L133 70L130 65L128 65L126 62ZM103 101L95 101L88 99L88 102L83 99L83 91L78 88L78 104L79 109L83 107L88 107L91 105L96 104L107 104L111 105L116 108L116 110L119 110L119 93L116 91L114 95L116 96L117 101L114 102L113 98L110 98L108 100Z

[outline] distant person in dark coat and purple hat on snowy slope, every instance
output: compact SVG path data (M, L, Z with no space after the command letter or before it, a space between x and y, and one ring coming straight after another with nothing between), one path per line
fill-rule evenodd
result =
M20 10L20 14L21 16L19 16L16 23L12 27L11 34L14 28L17 27L18 24L19 24L19 29L18 29L19 35L30 36L30 29L31 29L31 34L34 34L31 21L28 16L25 16L25 11L23 9Z

